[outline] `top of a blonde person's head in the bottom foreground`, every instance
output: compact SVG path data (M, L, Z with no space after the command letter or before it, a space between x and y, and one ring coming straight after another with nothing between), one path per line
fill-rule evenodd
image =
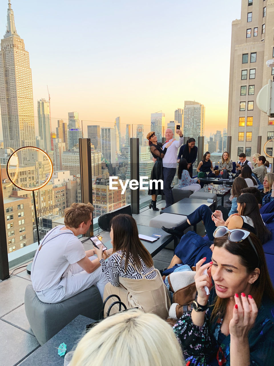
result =
M78 343L70 366L185 365L170 325L154 314L123 311L95 325Z

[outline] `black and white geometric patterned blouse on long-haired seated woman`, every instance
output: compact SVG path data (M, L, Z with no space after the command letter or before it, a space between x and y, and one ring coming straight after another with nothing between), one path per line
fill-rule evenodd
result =
M141 280L142 276L141 274L135 269L133 265L133 258L132 255L129 255L128 265L125 271L125 258L123 258L124 252L122 250L118 250L116 253L112 254L109 257L108 262L106 263L104 259L100 260L100 263L102 265L102 270L106 274L107 279L110 281L110 283L113 286L118 287L120 285L119 282L119 276L130 278L134 280ZM145 265L145 262L140 258L142 269L140 272L147 280L153 280L157 276L157 272L152 267L147 267ZM152 272L153 271L153 272ZM151 273L149 273L151 272ZM146 275L146 273L149 273L149 275Z

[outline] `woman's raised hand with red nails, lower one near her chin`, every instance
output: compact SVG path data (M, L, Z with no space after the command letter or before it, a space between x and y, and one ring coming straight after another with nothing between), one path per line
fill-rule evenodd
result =
M241 300L239 296L241 296ZM254 326L258 308L251 295L235 294L234 299L235 306L233 317L229 322L229 333L231 337L241 340L248 337L250 329Z

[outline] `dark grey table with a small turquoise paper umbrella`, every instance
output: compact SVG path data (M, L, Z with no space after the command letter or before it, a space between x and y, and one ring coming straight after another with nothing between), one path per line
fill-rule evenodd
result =
M79 340L85 335L85 327L95 320L78 315L68 325L60 330L43 346L37 348L28 358L20 363L22 366L63 366L64 357L58 355L58 347L66 344L66 353L76 348Z

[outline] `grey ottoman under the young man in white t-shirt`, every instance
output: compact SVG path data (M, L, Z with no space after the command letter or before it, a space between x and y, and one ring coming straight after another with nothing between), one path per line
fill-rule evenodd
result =
M27 319L41 346L78 315L98 320L102 305L102 299L96 286L91 286L56 304L46 304L40 301L32 285L27 285L25 291Z

